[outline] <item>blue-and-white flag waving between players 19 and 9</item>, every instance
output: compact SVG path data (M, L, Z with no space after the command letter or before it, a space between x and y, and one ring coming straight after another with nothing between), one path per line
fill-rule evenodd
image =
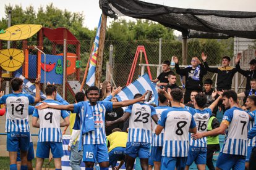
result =
M20 75L20 73L17 73L15 77L23 79L23 88L22 88L23 93L35 96L36 90L35 90L35 85L33 83L28 81L28 79L26 79L24 76ZM43 94L43 92L41 91L40 91L40 96L42 99L46 99L46 95Z

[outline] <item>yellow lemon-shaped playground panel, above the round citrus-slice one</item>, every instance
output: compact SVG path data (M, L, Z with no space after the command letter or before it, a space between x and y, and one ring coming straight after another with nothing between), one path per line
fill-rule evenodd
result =
M0 39L6 41L17 41L32 37L42 28L41 25L22 24L14 25L0 32Z

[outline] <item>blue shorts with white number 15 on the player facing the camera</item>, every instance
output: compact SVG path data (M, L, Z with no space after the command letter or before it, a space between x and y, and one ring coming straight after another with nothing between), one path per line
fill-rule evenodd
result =
M109 161L108 148L106 144L83 145L83 161L93 163Z

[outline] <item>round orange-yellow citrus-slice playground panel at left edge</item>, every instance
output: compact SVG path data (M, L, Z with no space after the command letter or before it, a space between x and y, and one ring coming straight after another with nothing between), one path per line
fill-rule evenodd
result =
M3 49L0 51L0 66L6 71L16 71L22 66L24 58L20 49Z

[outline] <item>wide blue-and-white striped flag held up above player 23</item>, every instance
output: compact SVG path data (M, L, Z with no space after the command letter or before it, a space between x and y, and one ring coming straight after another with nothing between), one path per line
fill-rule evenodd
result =
M148 73L145 73L145 75L140 76L134 82L122 89L122 91L119 92L116 97L118 101L130 100L134 99L135 94L144 94L149 90L152 91L152 97L151 100L146 103L155 103L158 105L158 94L156 88L156 84L151 82Z

